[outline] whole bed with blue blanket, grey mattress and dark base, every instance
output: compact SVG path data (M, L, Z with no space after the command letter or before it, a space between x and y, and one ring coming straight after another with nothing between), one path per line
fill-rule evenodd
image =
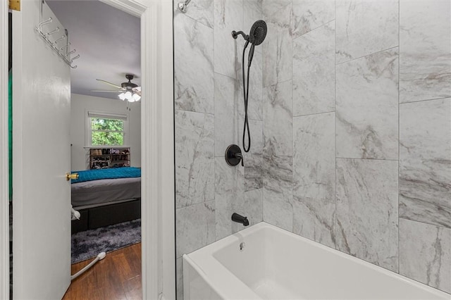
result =
M80 212L72 233L141 217L141 169L133 167L75 171L71 202Z

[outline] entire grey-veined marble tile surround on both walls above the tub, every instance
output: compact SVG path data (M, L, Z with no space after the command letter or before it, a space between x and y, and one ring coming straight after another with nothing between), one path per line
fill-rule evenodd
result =
M439 0L175 11L178 299L182 254L241 230L235 211L451 293L450 11ZM251 152L230 168L243 43L228 37L260 18Z

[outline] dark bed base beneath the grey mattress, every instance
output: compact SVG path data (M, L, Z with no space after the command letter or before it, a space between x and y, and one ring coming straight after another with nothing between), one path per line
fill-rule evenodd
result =
M141 218L141 198L118 204L82 208L78 211L81 215L80 220L71 222L72 234Z

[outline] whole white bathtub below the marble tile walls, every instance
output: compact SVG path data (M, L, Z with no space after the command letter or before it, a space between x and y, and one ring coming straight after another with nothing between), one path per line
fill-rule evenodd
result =
M263 222L185 254L183 292L185 300L451 299Z

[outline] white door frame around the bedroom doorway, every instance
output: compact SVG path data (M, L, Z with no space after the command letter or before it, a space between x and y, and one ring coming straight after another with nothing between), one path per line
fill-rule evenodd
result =
M101 1L141 18L142 295L175 299L173 1ZM0 1L0 299L9 299L7 65L8 1Z

